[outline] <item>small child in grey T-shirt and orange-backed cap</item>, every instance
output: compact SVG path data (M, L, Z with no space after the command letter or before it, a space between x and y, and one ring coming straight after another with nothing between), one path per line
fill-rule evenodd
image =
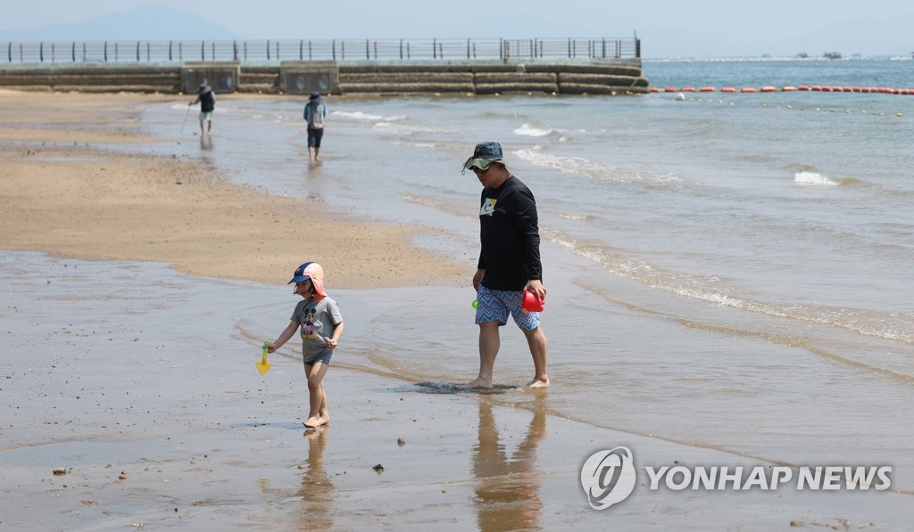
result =
M324 374L330 367L334 349L343 335L343 316L336 301L324 292L324 268L316 262L298 266L289 284L303 297L292 312L289 326L279 338L267 345L270 352L280 349L301 328L304 374L308 378L308 399L311 412L304 426L309 429L330 422L327 396L324 393Z

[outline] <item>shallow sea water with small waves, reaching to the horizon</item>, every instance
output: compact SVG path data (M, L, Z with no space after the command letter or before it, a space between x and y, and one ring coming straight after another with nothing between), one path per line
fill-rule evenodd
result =
M911 65L645 61L643 72L674 88L905 88ZM550 412L791 464L887 462L900 487L914 487L904 473L914 437L911 96L331 96L316 166L303 103L219 99L211 138L189 141L188 123L183 139L154 150L331 211L434 228L417 244L463 261L466 287L366 297L385 304L366 304L370 328L347 328L349 358L339 359L351 368L414 382L475 376L481 187L461 166L475 143L500 141L537 197ZM176 139L185 112L183 101L154 106L143 124ZM526 344L513 325L502 338L495 379L521 384L532 376ZM524 391L504 397L532 402Z

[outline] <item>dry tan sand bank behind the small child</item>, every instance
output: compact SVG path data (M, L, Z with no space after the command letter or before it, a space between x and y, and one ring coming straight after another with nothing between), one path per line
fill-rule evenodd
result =
M246 190L201 162L94 148L154 141L136 132L136 108L163 99L0 91L0 245L162 261L191 274L273 284L306 260L332 265L335 287L465 276L465 268L409 244L418 228Z

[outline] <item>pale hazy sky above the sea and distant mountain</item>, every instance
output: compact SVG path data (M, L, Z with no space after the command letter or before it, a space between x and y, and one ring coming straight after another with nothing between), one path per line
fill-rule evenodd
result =
M637 32L645 57L914 51L910 0L14 0L5 2L0 39L4 31L77 24L140 5L201 16L242 39L630 37Z

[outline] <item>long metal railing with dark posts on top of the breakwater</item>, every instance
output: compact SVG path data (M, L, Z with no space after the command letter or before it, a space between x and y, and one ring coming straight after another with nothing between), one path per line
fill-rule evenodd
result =
M291 60L599 59L641 57L641 39L318 39L250 41L0 41L6 64Z

